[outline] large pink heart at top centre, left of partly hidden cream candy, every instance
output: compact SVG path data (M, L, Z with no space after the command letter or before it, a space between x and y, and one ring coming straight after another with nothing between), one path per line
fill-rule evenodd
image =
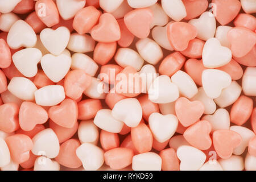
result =
M128 30L140 39L150 34L150 24L153 21L153 13L150 9L136 9L127 13L124 17Z

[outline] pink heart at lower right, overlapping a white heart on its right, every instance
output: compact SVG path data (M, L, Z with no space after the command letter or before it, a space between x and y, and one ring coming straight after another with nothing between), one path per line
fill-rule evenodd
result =
M212 134L213 146L222 159L232 156L233 149L242 143L240 134L232 130L217 130Z

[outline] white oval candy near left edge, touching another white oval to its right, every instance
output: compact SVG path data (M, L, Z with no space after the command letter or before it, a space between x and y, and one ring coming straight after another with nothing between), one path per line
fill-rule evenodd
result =
M32 81L24 77L13 77L7 89L14 96L24 101L34 101L34 93L38 90Z

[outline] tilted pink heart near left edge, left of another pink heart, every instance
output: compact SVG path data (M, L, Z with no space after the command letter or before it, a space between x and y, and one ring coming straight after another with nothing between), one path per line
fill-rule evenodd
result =
M43 107L34 102L22 102L19 109L19 125L24 131L34 129L37 124L47 122L48 114Z

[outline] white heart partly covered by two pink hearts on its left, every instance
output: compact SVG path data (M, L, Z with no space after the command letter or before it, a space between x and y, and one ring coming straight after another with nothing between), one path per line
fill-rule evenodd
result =
M202 120L210 122L210 125L212 125L211 133L216 130L229 130L230 118L226 109L217 109L212 115L204 115Z

